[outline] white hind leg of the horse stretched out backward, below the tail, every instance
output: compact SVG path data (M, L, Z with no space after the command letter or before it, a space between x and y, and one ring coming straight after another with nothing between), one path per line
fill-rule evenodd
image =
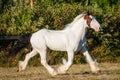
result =
M37 54L36 50L32 50L30 53L26 54L24 61L19 61L18 71L24 70L28 64L30 58Z

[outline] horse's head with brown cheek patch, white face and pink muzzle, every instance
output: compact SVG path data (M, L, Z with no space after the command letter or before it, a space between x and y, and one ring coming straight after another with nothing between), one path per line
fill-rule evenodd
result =
M92 13L90 11L87 11L85 13L84 19L86 20L87 27L90 27L94 29L95 31L102 30L101 25L99 22L92 16Z

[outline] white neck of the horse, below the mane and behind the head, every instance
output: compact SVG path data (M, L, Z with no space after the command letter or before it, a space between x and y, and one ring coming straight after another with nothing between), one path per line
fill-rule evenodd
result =
M86 27L84 25L85 20L81 18L79 21L75 22L71 28L72 32L74 33L76 39L79 41L83 39L86 33Z

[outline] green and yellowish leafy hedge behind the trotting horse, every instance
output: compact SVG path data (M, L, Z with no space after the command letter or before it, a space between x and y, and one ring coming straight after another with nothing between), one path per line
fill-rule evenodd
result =
M1 1L0 4L2 4ZM2 9L1 6L0 9ZM36 0L34 2L34 9L30 8L29 0L10 0L0 13L0 35L22 35L33 33L42 28L63 29L64 25L86 10L91 10L103 27L103 31L100 33L93 30L89 30L87 33L87 35L93 36L88 38L87 45L91 55L94 55L99 62L120 62L119 0L116 0L116 2L114 0ZM0 42L5 46L5 41ZM11 47L12 45L9 44L9 46ZM0 65L3 65L5 61L3 57L5 57L5 54L8 54L6 52L7 48L0 46ZM29 49L28 47L27 52L29 52ZM15 65L18 59L23 54L25 55L25 52L26 49L23 49L16 57L12 60L10 59L11 63L15 61L13 63ZM58 53L48 50L48 53L53 55L48 58L50 64L60 62L58 59L67 57L64 52ZM37 58L38 56L30 64L37 65ZM76 55L74 62L84 63L85 61L83 56Z

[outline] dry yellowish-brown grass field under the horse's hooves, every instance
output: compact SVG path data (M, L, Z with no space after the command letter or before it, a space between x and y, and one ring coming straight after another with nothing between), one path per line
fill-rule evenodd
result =
M101 63L100 68L101 73L92 74L88 64L74 64L66 74L52 77L43 66L28 66L21 72L0 67L0 80L120 80L120 63Z

